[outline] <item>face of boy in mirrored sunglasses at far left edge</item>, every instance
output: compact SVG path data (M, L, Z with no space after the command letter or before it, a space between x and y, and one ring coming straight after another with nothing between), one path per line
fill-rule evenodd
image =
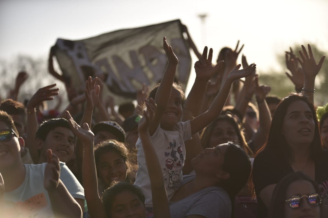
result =
M9 129L5 122L0 121L0 131ZM17 164L22 164L20 157L21 147L24 147L24 140L17 138L14 134L8 142L0 141L0 172L1 169L8 170Z

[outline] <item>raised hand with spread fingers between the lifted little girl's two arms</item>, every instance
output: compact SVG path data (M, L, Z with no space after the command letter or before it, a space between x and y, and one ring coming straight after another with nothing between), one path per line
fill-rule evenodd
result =
M212 64L213 58L213 49L210 48L210 51L207 56L207 46L203 50L202 57L195 62L195 72L196 78L203 78L209 80L212 78L215 73L224 65L224 61L219 61L215 66Z

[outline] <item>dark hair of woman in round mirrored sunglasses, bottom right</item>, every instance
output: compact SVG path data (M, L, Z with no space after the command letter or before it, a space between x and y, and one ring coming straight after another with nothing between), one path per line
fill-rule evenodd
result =
M286 200L286 192L291 183L299 180L309 181L312 183L315 192L320 194L320 189L318 183L311 179L309 176L306 176L303 172L295 172L290 173L284 178L282 178L278 184L276 185L269 209L269 218L284 218L285 217L285 208L284 205L287 204ZM302 190L299 190L302 191ZM295 193L297 194L297 193ZM288 197L288 196L287 196ZM322 204L319 206L322 208Z

